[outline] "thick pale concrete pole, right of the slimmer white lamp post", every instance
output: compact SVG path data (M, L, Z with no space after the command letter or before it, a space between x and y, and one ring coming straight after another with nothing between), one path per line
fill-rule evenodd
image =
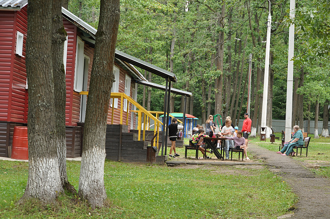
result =
M295 0L290 0L290 18L294 18ZM285 116L285 141L291 139L292 121L292 91L293 91L293 52L294 52L294 24L289 28L289 53L288 53L288 79L287 79L287 109Z

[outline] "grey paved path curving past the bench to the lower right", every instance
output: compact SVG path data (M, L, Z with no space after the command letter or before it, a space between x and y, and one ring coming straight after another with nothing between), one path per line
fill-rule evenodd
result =
M330 219L330 180L307 169L302 162L275 151L249 144L254 159L262 159L276 175L291 185L299 197L294 213L287 215L294 219Z

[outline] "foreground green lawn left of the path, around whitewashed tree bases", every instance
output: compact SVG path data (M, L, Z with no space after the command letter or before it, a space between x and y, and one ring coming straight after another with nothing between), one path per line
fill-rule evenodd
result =
M80 162L68 161L67 167L78 189ZM58 204L21 207L15 203L24 193L28 164L0 161L1 218L270 219L285 214L296 200L280 177L259 165L181 168L107 160L104 169L109 207L92 210L65 196Z

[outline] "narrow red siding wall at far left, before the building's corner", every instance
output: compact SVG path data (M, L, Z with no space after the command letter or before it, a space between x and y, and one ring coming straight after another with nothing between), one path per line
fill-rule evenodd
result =
M0 13L0 121L8 119L10 70L13 54L14 12Z

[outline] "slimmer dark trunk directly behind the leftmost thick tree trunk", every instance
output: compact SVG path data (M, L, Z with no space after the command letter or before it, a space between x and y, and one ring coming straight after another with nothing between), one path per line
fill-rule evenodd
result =
M58 148L58 164L61 186L64 189L76 194L77 191L73 185L68 182L66 173L66 136L65 136L65 103L66 103L66 85L65 70L63 65L64 41L66 40L66 31L63 26L61 0L53 1L53 37L52 37L52 58L54 75L54 94L55 94L55 117L56 117L56 143Z

